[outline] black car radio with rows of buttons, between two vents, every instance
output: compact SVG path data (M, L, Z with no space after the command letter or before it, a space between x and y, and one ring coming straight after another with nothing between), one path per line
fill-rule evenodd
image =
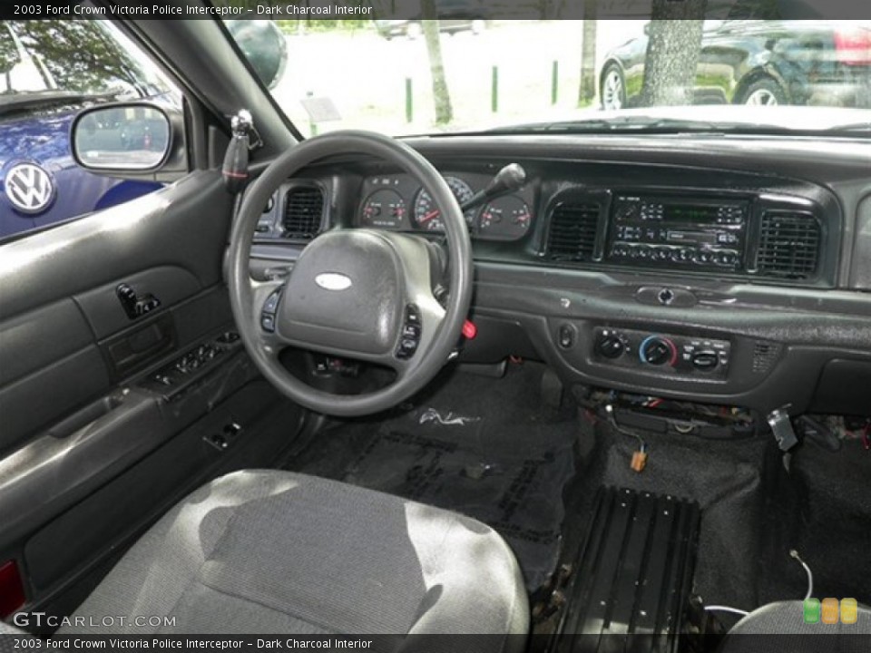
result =
M739 270L749 201L618 195L605 258L663 267Z

